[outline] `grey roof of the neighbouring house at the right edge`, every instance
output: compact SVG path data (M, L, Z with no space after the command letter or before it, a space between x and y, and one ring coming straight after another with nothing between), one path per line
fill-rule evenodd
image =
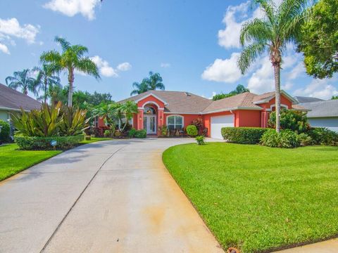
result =
M301 103L301 106L311 110L308 117L338 117L338 100L323 100L311 103Z

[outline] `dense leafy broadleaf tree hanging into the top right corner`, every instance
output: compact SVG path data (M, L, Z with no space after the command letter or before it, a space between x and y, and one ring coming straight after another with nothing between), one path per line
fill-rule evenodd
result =
M306 72L315 78L338 71L338 1L320 0L301 27L297 51L303 52Z

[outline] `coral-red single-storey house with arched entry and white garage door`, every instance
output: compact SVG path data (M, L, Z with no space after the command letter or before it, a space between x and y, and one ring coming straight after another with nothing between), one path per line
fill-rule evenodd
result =
M256 95L246 92L221 100L210 100L182 91L146 91L127 100L137 103L139 112L132 119L135 129L146 129L147 134L158 135L159 126L182 129L201 118L208 129L207 135L222 138L224 126L266 127L270 112L275 110L275 92ZM303 110L297 101L282 91L282 108Z

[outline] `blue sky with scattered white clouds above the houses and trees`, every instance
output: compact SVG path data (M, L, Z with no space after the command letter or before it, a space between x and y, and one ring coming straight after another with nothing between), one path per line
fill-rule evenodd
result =
M231 3L231 4L229 4ZM129 96L132 83L159 72L167 90L211 97L244 84L255 93L273 90L268 58L242 76L236 66L239 29L261 16L246 1L224 0L15 0L0 2L0 82L15 70L34 67L43 51L58 49L54 37L89 48L101 81L77 74L76 89ZM66 80L63 77L63 84ZM328 99L332 79L307 77L292 45L284 56L282 87L292 95Z

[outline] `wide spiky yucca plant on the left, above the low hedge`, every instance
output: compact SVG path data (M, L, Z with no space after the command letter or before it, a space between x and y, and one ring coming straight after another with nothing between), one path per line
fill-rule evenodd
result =
M21 109L21 115L12 114L11 119L17 129L17 134L23 136L49 137L58 136L63 124L61 103L54 106L42 104L40 110L25 112Z

